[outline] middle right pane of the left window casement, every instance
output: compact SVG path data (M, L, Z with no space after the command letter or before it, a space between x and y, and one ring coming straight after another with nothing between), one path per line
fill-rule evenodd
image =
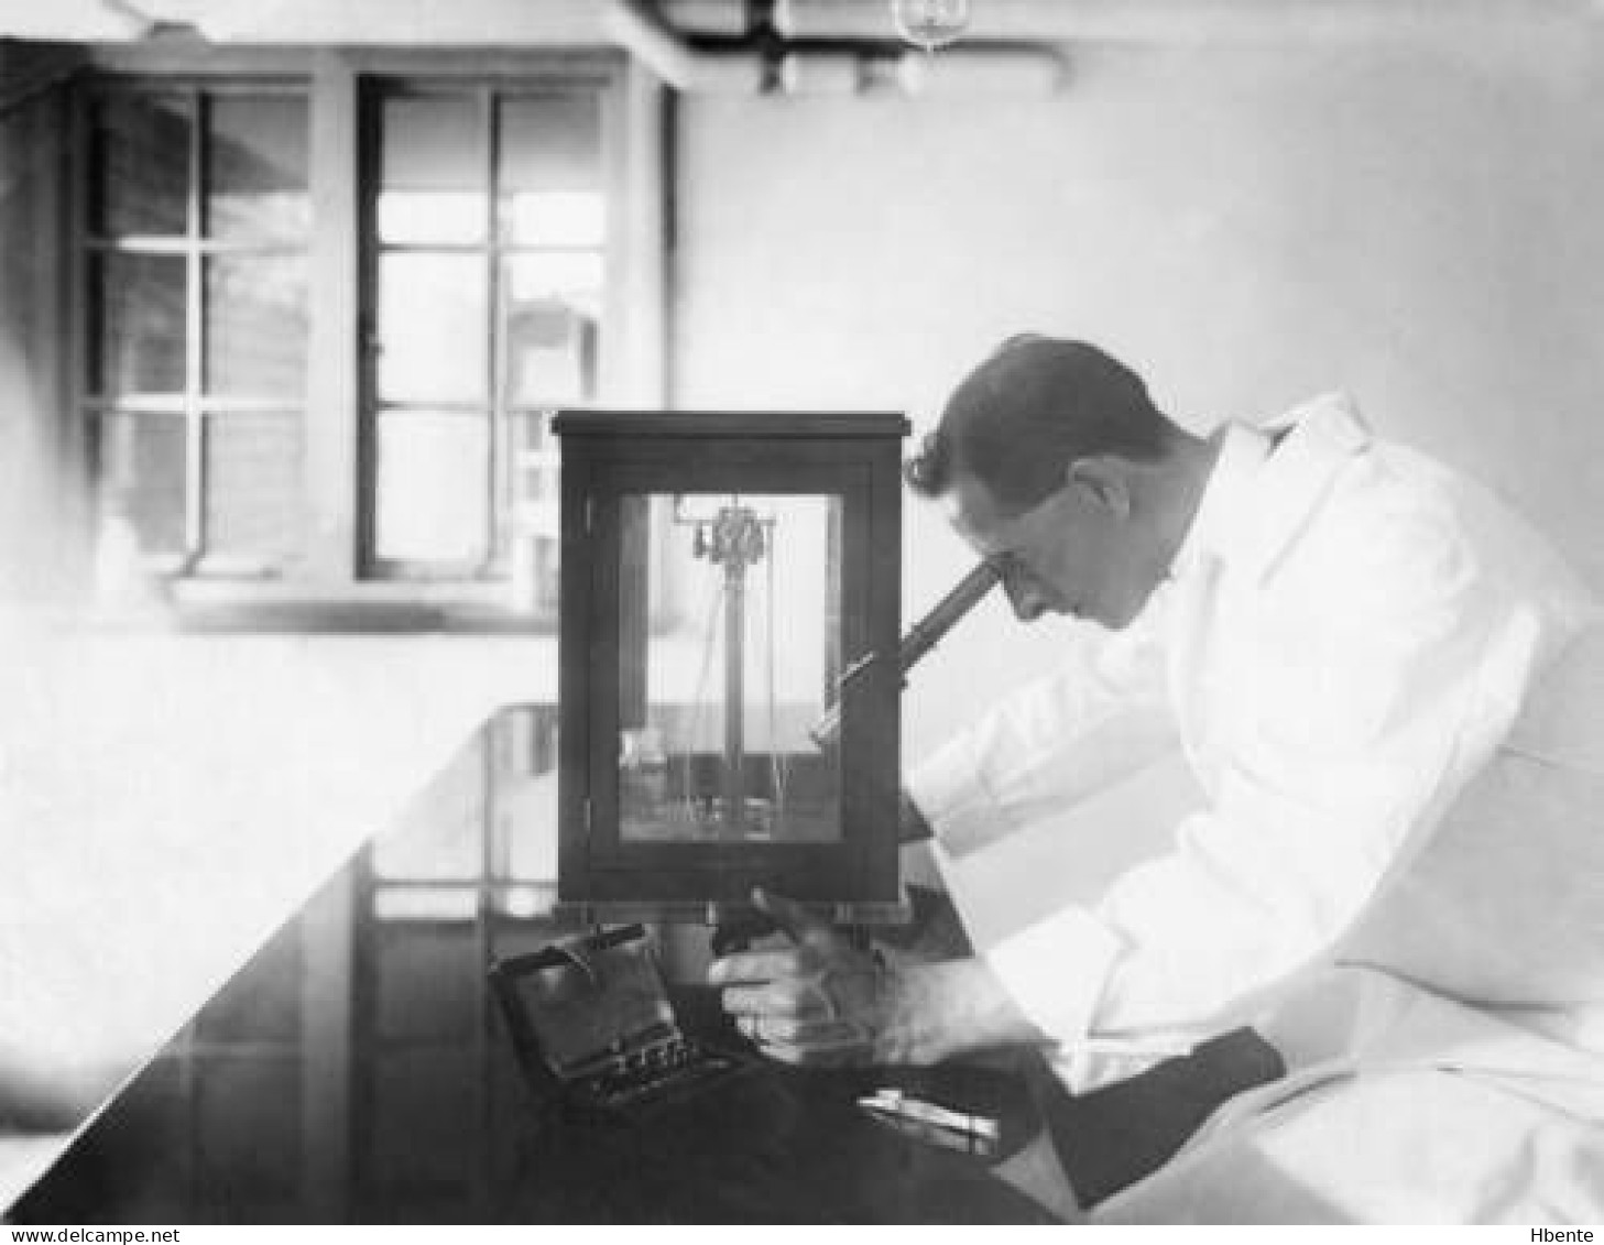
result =
M306 262L217 255L205 265L209 393L287 398L306 388Z

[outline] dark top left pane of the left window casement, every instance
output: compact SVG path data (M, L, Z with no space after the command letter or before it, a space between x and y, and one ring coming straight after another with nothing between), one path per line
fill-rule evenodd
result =
M90 116L90 229L111 237L181 236L189 205L189 101L120 91Z

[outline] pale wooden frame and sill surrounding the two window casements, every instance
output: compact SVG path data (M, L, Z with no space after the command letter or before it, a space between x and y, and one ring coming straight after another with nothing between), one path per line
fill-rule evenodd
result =
M600 93L608 196L606 274L597 359L597 403L661 404L666 390L667 90L611 48L403 50L215 48L199 42L98 47L80 83L72 141L74 225L71 412L88 427L88 149L83 98L103 83L228 90L239 83L305 87L308 101L306 393L302 404L303 547L279 578L173 578L162 626L223 632L470 632L557 634L555 608L513 600L502 578L382 578L369 557L374 478L367 342L371 284L364 253L366 188L374 168L364 143L366 99L385 82L446 88L593 87ZM91 483L99 464L85 446ZM492 497L494 505L494 497ZM93 526L93 525L91 525ZM93 539L93 537L91 537ZM111 603L112 626L146 626L149 606Z

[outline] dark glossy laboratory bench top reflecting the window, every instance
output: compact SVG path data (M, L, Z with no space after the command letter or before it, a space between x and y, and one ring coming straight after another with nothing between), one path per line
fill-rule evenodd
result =
M1158 1166L1225 1097L1280 1072L1246 1030L1079 1099L1028 1060L834 1073L760 1062L638 1128L565 1120L531 1094L486 982L494 958L573 932L541 881L550 862L529 850L555 844L553 732L550 708L494 719L433 796L165 1043L8 1221L1041 1223L1038 1203L983 1160L898 1136L855 1099L901 1083L994 1109L1004 1152L1041 1120L1092 1205ZM693 985L709 931L659 932L682 1020L733 1040L712 993Z

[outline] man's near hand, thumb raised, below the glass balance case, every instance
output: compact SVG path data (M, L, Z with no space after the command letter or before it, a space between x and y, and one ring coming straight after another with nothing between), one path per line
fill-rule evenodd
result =
M788 1064L934 1064L1043 1035L982 959L882 963L800 903L764 890L757 908L789 947L714 961L723 1009L765 1054Z

